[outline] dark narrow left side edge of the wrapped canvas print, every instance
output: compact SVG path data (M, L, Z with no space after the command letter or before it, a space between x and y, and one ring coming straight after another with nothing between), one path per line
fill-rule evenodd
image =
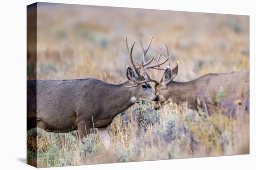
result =
M37 3L27 6L27 164L37 167L36 132Z

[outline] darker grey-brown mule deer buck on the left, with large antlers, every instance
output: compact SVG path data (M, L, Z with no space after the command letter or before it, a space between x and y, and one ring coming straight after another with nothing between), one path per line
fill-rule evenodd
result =
M136 41L136 40L135 40ZM74 80L28 80L27 81L27 130L36 127L47 132L71 132L78 129L82 140L90 128L109 126L116 115L125 111L139 99L157 102L158 98L149 82L151 79L146 69L151 67L145 61L152 38L144 49L142 43L141 64L135 65L132 51L135 45L126 46L133 69L127 67L128 81L110 84L101 80L87 78ZM140 39L141 42L141 39ZM152 64L154 67L165 63ZM145 75L140 73L144 71ZM37 99L37 103L36 100ZM103 134L108 134L104 130Z

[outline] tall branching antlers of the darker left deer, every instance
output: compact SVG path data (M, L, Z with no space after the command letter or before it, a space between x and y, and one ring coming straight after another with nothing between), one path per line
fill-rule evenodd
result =
M147 54L148 49L149 49L149 47L150 47L150 44L151 44L151 42L152 42L152 39L153 39L153 37L150 39L147 48L144 49L144 46L143 46L142 41L141 41L141 35L140 35L140 42L141 42L141 49L142 49L141 65L137 65L137 66L136 66L135 63L134 63L134 58L132 57L132 50L133 50L133 47L134 47L134 44L135 44L135 41L136 41L136 40L134 41L134 43L133 43L132 46L131 46L131 49L129 50L128 42L127 42L127 36L125 37L125 40L126 40L126 47L127 47L128 52L129 52L129 57L130 57L132 66L133 66L133 68L135 69L136 74L139 76L139 78L140 78L140 80L141 80L141 82L138 82L138 81L136 81L134 78L129 77L133 82L136 83L136 84L133 85L133 86L127 86L127 87L129 87L129 88L139 86L139 85L141 85L141 84L143 84L143 83L145 83L145 82L155 82L155 86L158 85L158 82L157 82L156 80L154 80L154 79L151 79L150 76L148 75L147 71L146 71L146 68L144 68L145 66L149 66L148 64L150 64L150 63L154 60L154 57L155 57L155 53L154 53L152 59L150 59L148 62L146 62L146 60L145 60L145 57L146 57L146 54ZM135 61L135 62L136 62L136 61ZM136 63L139 64L138 62L136 62ZM156 66L155 66L155 67L156 67ZM144 80L143 76L140 74L140 69L142 69L142 70L143 70L143 73L147 76L147 79L146 79L146 80Z

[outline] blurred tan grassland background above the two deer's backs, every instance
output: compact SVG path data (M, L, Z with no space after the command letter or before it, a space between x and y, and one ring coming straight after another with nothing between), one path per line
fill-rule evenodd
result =
M249 16L150 9L38 3L37 78L98 78L123 82L130 66L128 44L141 60L153 38L149 60L168 45L171 66L180 62L176 80L249 69ZM151 71L158 80L162 71Z

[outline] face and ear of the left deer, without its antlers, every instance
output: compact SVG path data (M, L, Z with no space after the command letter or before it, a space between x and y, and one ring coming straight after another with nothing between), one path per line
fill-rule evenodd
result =
M139 76L135 76L134 71L127 67L126 69L126 76L132 86L133 96L131 100L133 102L137 102L138 99L140 100L146 100L156 103L158 101L158 97L155 95L155 90L150 86L148 82L144 82L141 84L137 84L136 82L141 81L141 78ZM147 81L147 77L143 76L142 81Z

